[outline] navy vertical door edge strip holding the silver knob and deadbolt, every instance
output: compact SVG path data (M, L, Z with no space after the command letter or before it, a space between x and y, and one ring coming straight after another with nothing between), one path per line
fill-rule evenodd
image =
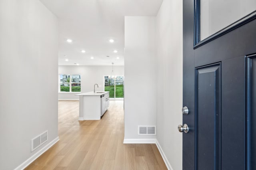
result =
M186 116L183 116L183 123L188 125L189 132L183 133L182 140L186 141L182 143L183 149L182 154L187 158L182 160L183 170L194 170L194 160L195 160L195 140L194 139L194 99L195 99L195 67L194 63L194 50L193 50L193 1L186 0L183 1L183 11L187 11L183 13L183 105L188 107L189 113ZM192 6L192 8L191 8ZM182 124L183 125L183 124Z

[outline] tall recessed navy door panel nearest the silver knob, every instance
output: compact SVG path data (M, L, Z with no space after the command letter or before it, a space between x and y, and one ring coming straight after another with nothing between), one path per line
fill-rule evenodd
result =
M196 169L220 169L220 63L196 69Z

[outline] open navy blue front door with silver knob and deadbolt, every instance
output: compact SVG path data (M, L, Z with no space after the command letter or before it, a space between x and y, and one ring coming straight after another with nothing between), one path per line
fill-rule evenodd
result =
M183 0L184 170L256 170L256 12L202 42Z

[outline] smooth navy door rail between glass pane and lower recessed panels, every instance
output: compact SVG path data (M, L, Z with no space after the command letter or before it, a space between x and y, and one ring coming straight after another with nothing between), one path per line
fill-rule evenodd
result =
M202 47L196 48L194 50L195 66L200 67L201 65L255 53L255 30L256 20L253 20L214 41L204 44Z

